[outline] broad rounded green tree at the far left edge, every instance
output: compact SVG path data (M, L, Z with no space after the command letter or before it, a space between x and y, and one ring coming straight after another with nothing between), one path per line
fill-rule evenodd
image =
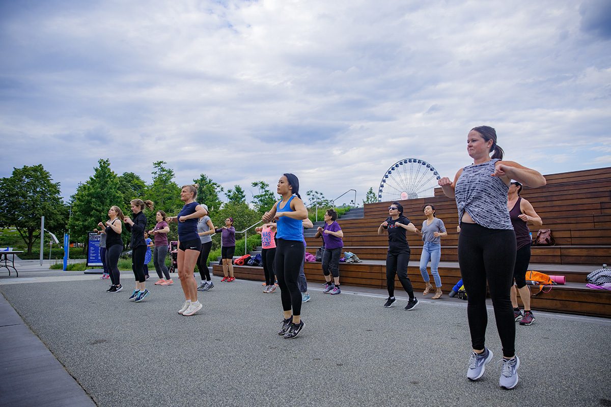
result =
M0 226L17 229L27 254L40 238L40 217L45 217L45 229L63 232L67 215L59 182L53 182L42 164L13 167L10 177L0 178Z

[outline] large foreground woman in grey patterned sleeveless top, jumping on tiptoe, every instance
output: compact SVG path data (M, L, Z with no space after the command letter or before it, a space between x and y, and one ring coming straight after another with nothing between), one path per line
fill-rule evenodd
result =
M467 319L473 347L467 378L478 380L492 359L492 351L485 346L487 281L503 346L499 385L513 389L518 384L520 361L515 355L516 326L510 298L516 235L507 209L507 191L512 178L530 187L543 186L546 181L535 170L503 161L496 131L489 126L471 129L467 153L472 165L458 170L453 182L447 177L439 180L445 195L456 199L461 228L458 263L468 295ZM492 157L490 153L494 153Z

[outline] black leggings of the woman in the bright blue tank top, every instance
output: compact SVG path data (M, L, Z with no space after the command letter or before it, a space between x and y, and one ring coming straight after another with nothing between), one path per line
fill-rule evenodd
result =
M301 315L301 291L297 279L299 267L304 261L304 242L300 240L277 239L274 270L280 286L282 309L291 311L293 315Z

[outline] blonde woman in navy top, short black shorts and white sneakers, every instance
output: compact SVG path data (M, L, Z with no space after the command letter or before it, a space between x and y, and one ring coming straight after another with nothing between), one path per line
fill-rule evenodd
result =
M197 188L199 184L184 185L180 191L180 200L185 206L178 215L167 218L168 223L178 222L178 277L185 293L185 303L178 314L185 316L202 309L202 303L197 301L197 283L193 270L202 249L202 241L197 234L197 220L208 212L196 202Z

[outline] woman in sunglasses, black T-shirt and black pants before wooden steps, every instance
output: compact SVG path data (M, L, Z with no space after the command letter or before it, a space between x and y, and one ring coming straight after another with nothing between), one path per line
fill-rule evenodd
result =
M388 299L384 306L390 308L397 301L395 299L395 275L399 276L401 286L409 295L406 310L414 309L418 300L414 295L412 282L408 278L408 263L411 250L409 249L406 231L419 233L414 224L403 216L403 206L393 202L388 208L389 217L378 227L378 234L388 234L388 254L386 254L386 288Z

